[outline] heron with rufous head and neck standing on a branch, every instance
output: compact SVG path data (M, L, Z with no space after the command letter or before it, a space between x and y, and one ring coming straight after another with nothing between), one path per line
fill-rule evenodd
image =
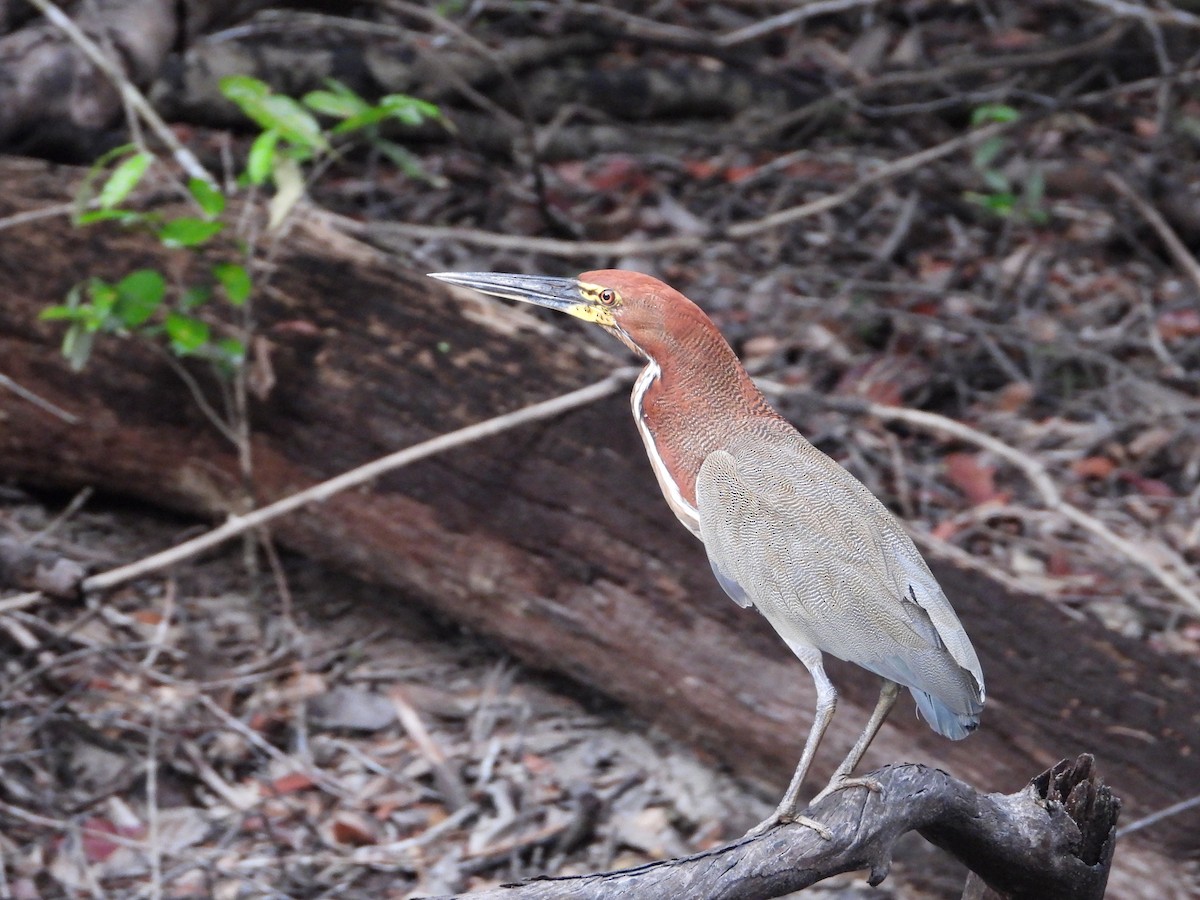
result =
M850 785L877 787L850 774L900 685L938 734L959 740L978 726L979 660L917 547L862 482L772 409L698 306L655 278L616 269L577 278L432 277L593 322L646 359L634 385L634 421L667 504L703 541L725 592L756 607L816 683L816 718L796 774L754 832L802 821L829 836L797 815L800 785L838 702L822 653L874 672L883 689L816 799Z

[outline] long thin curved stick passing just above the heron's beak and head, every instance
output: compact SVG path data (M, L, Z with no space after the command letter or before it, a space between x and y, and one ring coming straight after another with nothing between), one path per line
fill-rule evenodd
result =
M763 232L770 230L772 228L792 224L802 218L810 218L821 212L828 212L829 210L836 209L838 206L854 199L854 197L868 187L872 187L882 181L887 181L896 178L898 175L904 175L919 169L922 166L934 162L935 160L940 160L943 156L949 156L950 154L955 154L960 150L972 148L976 144L995 137L996 134L1002 134L1003 132L1014 128L1019 122L1020 120L1012 122L994 122L983 128L976 128L967 134L944 140L941 144L935 144L934 146L918 150L917 152L910 154L908 156L904 156L899 160L883 163L875 169L875 172L864 175L852 185L844 187L841 191L827 194L816 200L810 200L809 203L802 203L798 206L788 206L787 209L779 210L778 212L763 216L762 218L755 218L748 222L737 222L719 234L713 235L680 234L670 238L634 238L619 241L565 241L556 240L553 238L497 234L494 232L485 232L478 228L419 226L407 222L362 224L344 216L336 216L330 212L317 214L317 217L328 221L331 226L348 234L366 233L398 235L401 238L418 238L421 240L457 240L475 246L527 251L530 253L546 253L560 258L665 254L680 250L695 250L709 240L746 240L749 238L755 238Z

